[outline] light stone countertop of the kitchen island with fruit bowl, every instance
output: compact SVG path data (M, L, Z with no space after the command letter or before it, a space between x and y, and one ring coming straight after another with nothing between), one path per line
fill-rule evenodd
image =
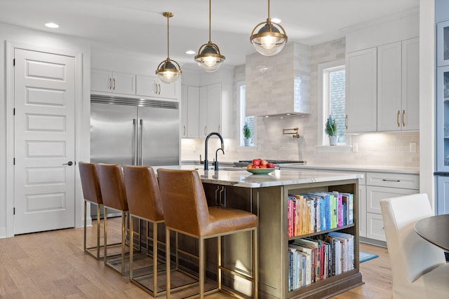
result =
M316 183L326 181L343 181L360 179L361 174L326 173L326 172L299 172L297 169L276 169L270 174L251 174L245 169L239 170L204 170L203 165L170 165L153 167L156 172L159 168L166 169L197 169L203 183L237 186L244 188L261 188L272 186L286 186L301 183ZM199 169L200 168L200 169Z

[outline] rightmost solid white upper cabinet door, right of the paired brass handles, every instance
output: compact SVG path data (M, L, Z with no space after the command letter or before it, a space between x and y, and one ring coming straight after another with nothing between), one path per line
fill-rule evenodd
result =
M402 130L420 130L420 39L402 42Z

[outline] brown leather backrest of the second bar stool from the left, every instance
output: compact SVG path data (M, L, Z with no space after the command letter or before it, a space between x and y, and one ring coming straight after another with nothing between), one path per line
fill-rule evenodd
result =
M118 164L97 164L103 204L119 211L128 211L123 170Z

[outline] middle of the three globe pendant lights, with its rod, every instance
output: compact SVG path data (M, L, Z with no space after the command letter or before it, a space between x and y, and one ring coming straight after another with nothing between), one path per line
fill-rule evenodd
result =
M198 55L195 56L195 61L207 72L217 71L222 63L225 61L225 56L220 54L220 48L215 43L210 41L210 0L209 0L209 41L199 47Z

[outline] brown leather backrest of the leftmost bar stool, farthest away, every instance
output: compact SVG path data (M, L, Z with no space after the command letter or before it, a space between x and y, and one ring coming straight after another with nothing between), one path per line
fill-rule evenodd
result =
M78 168L84 199L89 202L95 202L96 204L102 204L103 200L95 163L79 162Z

